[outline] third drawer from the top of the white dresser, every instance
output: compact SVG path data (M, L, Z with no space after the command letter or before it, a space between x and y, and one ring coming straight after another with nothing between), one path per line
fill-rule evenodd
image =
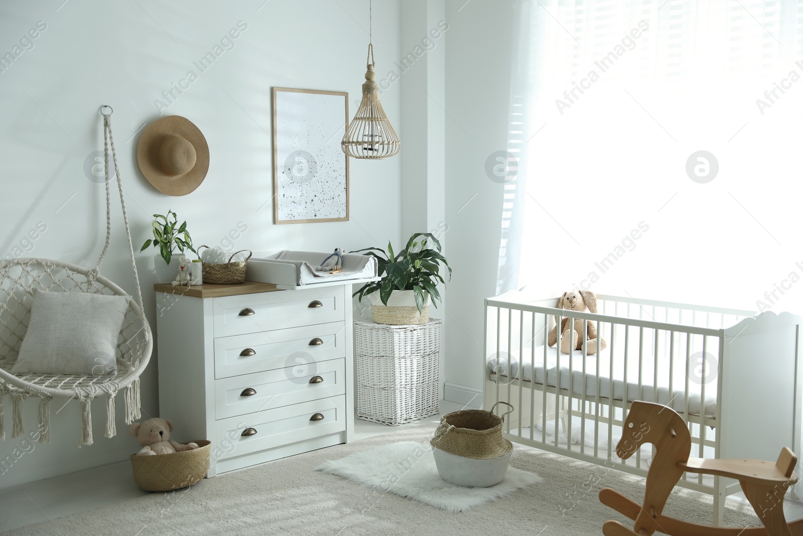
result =
M215 380L215 419L344 395L345 372L345 359L333 359Z

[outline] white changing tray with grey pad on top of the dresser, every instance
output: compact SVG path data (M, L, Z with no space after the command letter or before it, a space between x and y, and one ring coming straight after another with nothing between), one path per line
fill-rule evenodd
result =
M283 250L260 258L252 257L246 264L246 279L296 287L377 277L377 260L364 255L344 255L343 270L339 273L318 272L316 268L327 256L329 253Z

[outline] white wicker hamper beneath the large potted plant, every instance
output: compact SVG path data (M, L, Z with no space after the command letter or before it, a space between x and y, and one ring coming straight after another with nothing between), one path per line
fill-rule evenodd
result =
M397 426L438 413L441 321L354 321L357 418Z

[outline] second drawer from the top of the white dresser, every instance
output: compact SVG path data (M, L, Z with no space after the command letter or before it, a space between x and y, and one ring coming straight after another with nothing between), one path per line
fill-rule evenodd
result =
M305 325L214 340L214 377L299 366L346 355L345 322ZM299 374L305 372L299 371Z

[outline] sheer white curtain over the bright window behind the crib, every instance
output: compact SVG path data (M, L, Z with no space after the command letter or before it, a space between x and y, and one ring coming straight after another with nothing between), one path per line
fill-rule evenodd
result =
M500 289L803 309L803 0L521 5Z

